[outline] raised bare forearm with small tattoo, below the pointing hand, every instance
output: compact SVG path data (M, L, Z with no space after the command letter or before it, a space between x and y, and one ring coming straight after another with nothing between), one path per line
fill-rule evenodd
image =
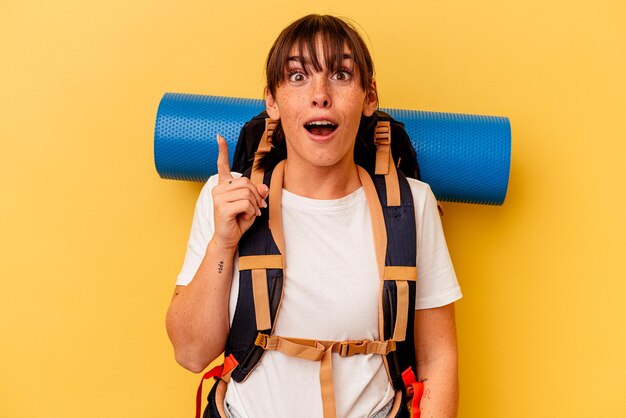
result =
M193 280L177 286L172 298L167 333L176 360L191 371L202 371L226 346L234 253L209 242Z

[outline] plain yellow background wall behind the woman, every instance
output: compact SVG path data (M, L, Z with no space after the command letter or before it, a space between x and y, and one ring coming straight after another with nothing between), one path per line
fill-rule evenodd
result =
M511 119L504 206L444 204L460 417L626 416L622 0L2 0L0 416L192 416L164 315L200 184L158 177L157 105L260 98L309 12L362 26L383 107Z

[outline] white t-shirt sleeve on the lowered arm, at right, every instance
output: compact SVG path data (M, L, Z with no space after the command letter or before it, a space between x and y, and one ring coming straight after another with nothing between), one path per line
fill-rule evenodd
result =
M462 297L437 209L426 183L409 179L415 204L417 233L417 285L415 309L452 303Z

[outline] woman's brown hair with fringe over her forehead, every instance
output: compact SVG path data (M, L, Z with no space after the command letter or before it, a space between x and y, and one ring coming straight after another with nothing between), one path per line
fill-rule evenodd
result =
M318 50L317 37L322 37L323 51ZM285 80L289 55L293 47L298 55L308 52L310 65L315 71L322 71L320 62L324 54L324 62L330 72L341 68L345 46L353 55L356 73L361 87L369 92L374 78L374 63L372 57L354 26L334 16L308 15L287 26L278 35L267 56L265 73L267 87L275 96L276 89Z

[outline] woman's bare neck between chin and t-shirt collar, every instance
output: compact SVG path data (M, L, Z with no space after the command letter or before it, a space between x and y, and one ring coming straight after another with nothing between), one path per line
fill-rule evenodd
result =
M332 167L303 167L285 163L283 187L310 199L339 199L361 187L353 160Z

